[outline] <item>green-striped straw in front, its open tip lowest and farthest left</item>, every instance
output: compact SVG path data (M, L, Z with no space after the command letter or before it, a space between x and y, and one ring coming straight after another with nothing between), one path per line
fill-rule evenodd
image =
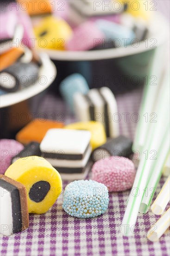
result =
M169 85L166 84L164 94L160 95L162 100L159 100L157 105L158 120L157 123L155 123L155 127L152 125L152 129L149 129L148 139L144 148L144 150L148 150L148 152L154 149L157 152L157 157L159 157L160 151L163 150L164 141L169 135L169 121L167 122L166 112L167 101L169 100L169 95L167 94L168 87ZM151 158L145 160L145 155L142 155L122 221L121 232L126 236L131 234L132 226L136 223L143 192L148 183L148 178L151 176L151 171L153 171L153 165L154 160Z

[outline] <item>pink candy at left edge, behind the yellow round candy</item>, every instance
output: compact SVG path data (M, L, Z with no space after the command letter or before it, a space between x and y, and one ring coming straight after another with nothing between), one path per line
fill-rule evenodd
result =
M0 174L4 174L10 166L11 160L18 155L24 146L15 140L0 140Z

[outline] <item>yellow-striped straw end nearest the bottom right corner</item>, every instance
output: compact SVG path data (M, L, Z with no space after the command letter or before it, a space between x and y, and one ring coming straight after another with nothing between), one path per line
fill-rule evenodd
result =
M158 241L159 238L164 234L164 232L166 231L166 229L168 229L169 226L170 226L170 208L164 213L162 217L160 217L160 219L158 219L158 221L155 223L153 228L149 229L147 238L152 242Z

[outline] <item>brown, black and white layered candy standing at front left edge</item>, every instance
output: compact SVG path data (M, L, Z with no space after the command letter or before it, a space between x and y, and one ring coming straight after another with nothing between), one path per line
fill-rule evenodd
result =
M26 188L0 174L0 233L10 236L29 226Z

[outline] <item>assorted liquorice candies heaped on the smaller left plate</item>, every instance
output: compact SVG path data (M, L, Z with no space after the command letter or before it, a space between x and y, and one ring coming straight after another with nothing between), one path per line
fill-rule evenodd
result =
M3 11L2 11L3 10ZM16 92L38 79L40 60L31 50L33 29L29 15L1 8L0 94Z

